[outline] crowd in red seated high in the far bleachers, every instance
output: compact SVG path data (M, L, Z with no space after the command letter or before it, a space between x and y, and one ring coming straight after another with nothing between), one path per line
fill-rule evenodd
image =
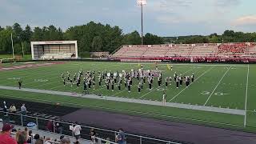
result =
M218 46L218 53L244 53L246 50L246 43L222 44Z

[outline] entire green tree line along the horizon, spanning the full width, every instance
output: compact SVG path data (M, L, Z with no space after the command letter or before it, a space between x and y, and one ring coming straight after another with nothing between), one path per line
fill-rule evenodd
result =
M109 51L110 53L122 45L140 45L141 36L138 31L124 34L118 26L103 25L102 23L89 22L82 26L71 26L63 31L53 25L34 27L26 25L25 28L18 23L13 26L0 26L0 54L11 54L12 45L10 35L13 35L14 53L22 54L22 45L25 54L30 54L31 41L62 41L77 40L78 53L88 54L91 51ZM222 43L222 42L255 42L256 33L234 32L226 30L223 34L190 35L179 37L160 37L155 34L145 34L144 44L167 43Z

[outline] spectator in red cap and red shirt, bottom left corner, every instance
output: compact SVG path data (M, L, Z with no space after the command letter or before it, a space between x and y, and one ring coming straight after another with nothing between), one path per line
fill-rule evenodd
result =
M13 130L14 126L6 123L2 126L2 132L0 134L0 143L1 144L17 144L14 138L11 137L11 131Z

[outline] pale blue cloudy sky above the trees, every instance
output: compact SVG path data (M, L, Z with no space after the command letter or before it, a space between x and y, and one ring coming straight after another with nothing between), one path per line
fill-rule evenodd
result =
M144 33L160 36L256 31L256 0L147 0ZM66 30L87 22L141 31L136 0L0 0L0 26L54 26Z

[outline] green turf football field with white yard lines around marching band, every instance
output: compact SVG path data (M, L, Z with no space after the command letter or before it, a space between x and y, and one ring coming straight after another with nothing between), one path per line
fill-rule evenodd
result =
M2 64L5 66L8 64ZM143 64L144 70L153 70L154 64ZM159 64L158 69L166 76L173 77L177 74L191 75L194 73L195 82L188 88L175 87L174 81L171 86L157 86L157 78L154 78L153 90L147 90L147 83L141 94L138 94L138 81L134 79L131 92L122 86L118 91L106 90L105 85L98 86L96 78L95 90L91 89L90 94L102 94L118 98L133 98L140 100L150 100L153 102L162 101L163 90L166 90L166 102L188 104L193 106L212 106L232 110L246 110L246 115L223 114L204 110L188 110L166 106L150 106L129 102L114 102L90 98L73 98L68 96L58 96L51 94L37 94L22 92L17 90L1 90L1 98L22 98L27 101L56 103L78 107L93 107L97 109L111 110L126 114L143 115L154 118L171 119L175 121L194 122L210 126L222 126L239 130L250 130L256 132L256 65L220 65L220 64L172 64L173 70L168 70L166 64ZM61 74L70 72L70 78L78 70L98 70L130 71L138 70L138 63L121 62L66 62L52 66L40 66L36 68L26 68L21 70L0 71L0 86L18 86L18 78L22 78L22 87L39 89L66 91L71 93L82 93L82 86L63 86ZM105 82L103 82L105 83ZM246 128L244 124L246 122Z

